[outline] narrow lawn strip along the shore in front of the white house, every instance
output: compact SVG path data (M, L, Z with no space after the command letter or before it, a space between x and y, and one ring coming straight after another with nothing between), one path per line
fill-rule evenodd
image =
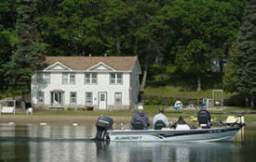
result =
M165 115L169 118L169 120L173 121L173 118L179 118L182 116L183 118L190 119L196 117L197 110L195 109L179 109L174 110L169 108L169 106L144 106L144 112L150 117L153 118L155 114L157 114L157 110L159 107L165 108ZM220 120L225 120L228 116L236 116L232 114L234 111L252 111L256 112L256 110L251 110L249 108L244 107L227 107L223 110L209 110L211 113L211 118L214 118L215 122L219 122ZM68 110L37 110L34 112L33 117L77 117L77 118L87 118L87 117L98 117L100 115L108 116L108 117L124 117L126 119L131 118L136 111L129 110L112 110L112 111L88 111L88 110L77 110L77 111L68 111ZM23 116L24 118L28 118L30 116L26 116L25 112L17 111L17 116ZM8 114L7 116L12 116ZM176 119L174 119L175 121ZM256 122L256 114L245 114L245 120L247 123Z

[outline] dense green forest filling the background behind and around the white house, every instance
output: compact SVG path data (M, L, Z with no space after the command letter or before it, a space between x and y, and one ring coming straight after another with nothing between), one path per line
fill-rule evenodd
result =
M164 85L171 76L189 76L188 87L201 91L202 81L212 75L225 91L245 93L246 100L253 101L255 4L255 0L1 0L0 90L28 87L45 56L136 55L143 70L142 89L146 82ZM217 72L210 70L212 58L219 60Z

